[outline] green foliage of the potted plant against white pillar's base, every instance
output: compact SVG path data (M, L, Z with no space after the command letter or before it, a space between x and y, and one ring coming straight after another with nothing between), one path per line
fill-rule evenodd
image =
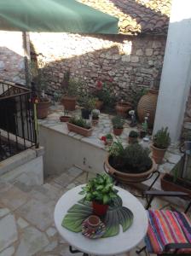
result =
M162 127L153 136L153 146L156 148L168 148L171 143L171 137L168 132L168 127Z

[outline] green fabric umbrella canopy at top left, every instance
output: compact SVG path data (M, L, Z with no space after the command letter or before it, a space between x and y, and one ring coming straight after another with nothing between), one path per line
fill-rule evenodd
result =
M0 30L117 34L118 19L75 0L0 0Z

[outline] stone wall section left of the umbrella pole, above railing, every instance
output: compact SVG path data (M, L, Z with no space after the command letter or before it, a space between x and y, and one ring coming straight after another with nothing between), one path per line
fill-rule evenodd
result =
M0 79L26 84L22 32L0 32Z

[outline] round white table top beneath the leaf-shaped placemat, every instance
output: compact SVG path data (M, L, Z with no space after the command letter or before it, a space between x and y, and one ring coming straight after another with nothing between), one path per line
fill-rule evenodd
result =
M119 235L93 240L83 236L80 232L74 233L61 226L62 219L67 214L67 210L84 197L84 195L78 195L83 186L79 185L74 189L68 190L66 194L61 196L55 206L55 227L61 236L81 252L96 255L125 253L136 247L148 230L147 212L134 195L119 187L116 187L116 189L119 190L118 195L123 200L123 206L128 207L134 215L133 223L128 230L123 232L120 226Z

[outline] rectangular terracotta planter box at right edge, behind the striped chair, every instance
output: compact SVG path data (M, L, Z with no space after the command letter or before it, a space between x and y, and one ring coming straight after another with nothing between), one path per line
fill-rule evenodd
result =
M173 179L174 177L171 174L165 173L160 179L161 188L165 191L179 191L191 195L190 182L181 177L177 177L176 182L174 182Z

